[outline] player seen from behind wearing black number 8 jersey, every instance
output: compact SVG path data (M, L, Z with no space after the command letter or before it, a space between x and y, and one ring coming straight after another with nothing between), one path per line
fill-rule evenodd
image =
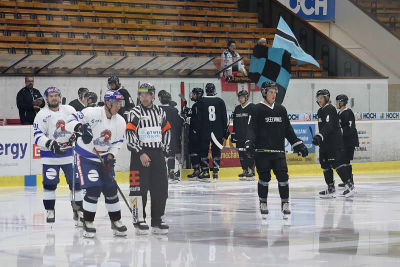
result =
M227 129L227 115L225 102L216 97L215 85L207 83L205 85L206 96L201 97L197 104L197 121L196 131L199 132L200 136L200 160L201 160L201 173L198 176L199 181L210 182L208 172L208 148L211 142L211 132L215 134L215 137L222 142L222 138L227 139L229 132ZM220 163L221 150L212 142L211 144L212 153L212 178L216 180L218 178L218 170Z

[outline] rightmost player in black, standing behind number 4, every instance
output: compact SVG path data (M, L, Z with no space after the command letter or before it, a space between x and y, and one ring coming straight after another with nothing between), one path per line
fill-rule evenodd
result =
M353 181L353 170L350 161L354 157L354 147L359 146L358 134L355 128L355 117L354 113L350 108L346 107L348 97L345 94L339 94L336 96L336 108L339 109L337 113L339 115L339 123L341 132L343 133L343 146L344 146L344 164L351 174L351 183ZM345 183L338 184L339 189L344 189ZM345 191L343 192L345 193Z

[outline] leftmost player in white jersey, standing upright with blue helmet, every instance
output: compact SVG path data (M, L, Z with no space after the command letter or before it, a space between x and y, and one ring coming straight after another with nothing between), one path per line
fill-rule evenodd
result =
M70 105L61 103L61 92L57 87L48 87L44 91L47 107L41 109L33 122L33 140L40 145L40 158L43 171L43 204L46 210L46 221L55 221L55 189L59 183L59 171L65 174L66 182L71 190L69 198L72 204L73 168L72 168L72 131L65 129L67 117L76 112ZM82 206L82 190L78 180L74 180L75 204ZM82 226L79 218L82 211L73 209L76 226Z

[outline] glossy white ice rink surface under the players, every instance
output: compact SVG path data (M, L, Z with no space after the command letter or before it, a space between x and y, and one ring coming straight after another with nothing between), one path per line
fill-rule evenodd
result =
M291 179L288 220L276 180L266 220L256 180L182 181L169 185L170 229L161 236L135 235L121 202L128 232L114 237L101 196L94 239L73 226L66 187L57 188L52 227L40 187L0 188L0 266L400 266L399 179L398 172L356 175L358 192L332 199L317 196L322 175ZM121 188L128 195L127 184Z

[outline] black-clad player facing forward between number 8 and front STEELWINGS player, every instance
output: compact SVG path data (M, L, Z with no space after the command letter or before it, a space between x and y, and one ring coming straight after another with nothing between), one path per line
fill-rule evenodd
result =
M237 93L239 105L233 110L233 132L230 140L236 143L236 147L244 148L246 139L248 117L251 114L253 103L248 102L248 92L241 90ZM254 180L254 159L249 153L239 151L240 166L243 172L239 174L240 180Z

